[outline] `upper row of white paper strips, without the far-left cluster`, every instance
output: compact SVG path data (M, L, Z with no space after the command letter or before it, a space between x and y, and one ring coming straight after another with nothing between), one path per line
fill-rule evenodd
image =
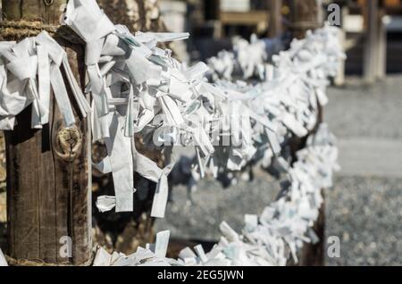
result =
M187 68L172 58L170 50L157 47L158 42L188 38L187 33L132 35L126 27L113 25L95 0L70 1L63 22L87 43L93 138L105 140L108 151L105 161L95 166L113 173L115 210L132 211L132 173L138 171L158 184L152 216L159 218L164 216L167 175L176 162L177 145L195 146L195 169L201 177L210 171L216 175L222 168L239 171L267 144L272 146L265 150L272 152L271 158L278 155L282 142L278 131L290 129L303 137L313 128L315 90L326 86L326 76L339 60L339 54L332 53L338 50L327 48L328 34L333 33L327 27L305 41L295 41L289 52L280 54L275 60L276 76L266 85L211 84L205 79L209 71L205 63ZM285 76L289 72L291 75ZM272 114L274 119L269 118ZM272 123L275 120L277 123ZM134 135L141 135L147 146L170 157L168 166L159 169L138 154ZM224 138L239 146L216 146ZM257 140L262 143L255 145ZM270 154L265 156L270 158ZM287 167L284 159L277 160ZM138 166L141 161L147 167ZM111 209L113 198L101 196L96 205L102 211Z

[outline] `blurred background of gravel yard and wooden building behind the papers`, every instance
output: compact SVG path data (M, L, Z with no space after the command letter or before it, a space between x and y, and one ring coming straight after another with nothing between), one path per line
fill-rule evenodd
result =
M264 42L267 54L275 54L286 49L291 38L303 38L307 29L322 26L331 14L330 5L337 4L339 39L348 59L328 90L330 103L323 114L339 139L342 167L334 188L325 192L325 235L340 238L341 255L327 257L326 263L402 264L402 0L100 2L106 13L110 9L128 15L116 13L121 21L135 18L138 7L149 6L147 17L162 20L163 30L190 32L187 41L170 46L188 64L230 51L239 38L250 40L252 35ZM132 29L154 30L154 21L134 22L138 26ZM4 149L2 137L0 144ZM4 247L4 150L0 161L0 247ZM172 230L178 243L207 245L220 237L222 221L241 230L244 214L261 213L279 189L264 172L256 170L251 182L249 178L240 176L229 188L201 180L190 199L185 186L175 186L166 218L155 222L155 231Z

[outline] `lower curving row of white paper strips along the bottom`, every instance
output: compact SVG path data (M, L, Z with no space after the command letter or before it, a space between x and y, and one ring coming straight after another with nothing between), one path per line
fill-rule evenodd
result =
M321 191L331 187L332 173L339 169L335 138L326 124L321 124L316 134L308 138L306 148L298 151L297 157L287 181L282 182L281 197L267 206L261 215L246 215L241 234L222 222L222 238L209 253L205 253L202 246L196 246L194 250L187 247L180 252L179 259L166 258L169 233L164 231L156 236L155 246L139 247L133 255L110 255L98 248L94 264L284 266L289 255L297 262L297 249L305 242L317 241L311 227L322 205ZM159 247L160 253L152 247Z

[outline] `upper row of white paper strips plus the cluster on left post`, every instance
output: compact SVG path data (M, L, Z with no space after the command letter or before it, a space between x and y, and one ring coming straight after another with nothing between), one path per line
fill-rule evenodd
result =
M149 147L155 142L168 145L177 141L196 146L201 176L239 171L256 158L266 164L279 162L282 171L291 176L289 163L281 156L281 144L290 135L304 137L314 128L318 104L327 102L327 79L336 73L342 59L337 30L325 27L275 56L275 68L266 82L250 86L219 81L213 85L205 81L205 63L186 68L169 50L156 46L188 34L138 32L133 36L126 27L113 25L95 0L70 1L65 11L63 23L87 43L90 80L86 92L92 95L92 105L75 81L63 48L43 32L18 44L0 45L0 127L13 129L15 116L32 105L32 127L41 128L48 122L51 89L65 125L73 126L74 113L60 71L63 65L80 113L92 113L94 140L103 140L107 148L108 156L95 166L113 173L116 196L98 199L102 211L113 207L116 212L132 211L133 172L138 171L157 182L152 215L164 216L175 146L163 147L167 166L160 169L135 149L134 134L141 135ZM216 141L210 134L216 125L218 139L241 137L240 146L214 147ZM307 180L295 187L309 188Z

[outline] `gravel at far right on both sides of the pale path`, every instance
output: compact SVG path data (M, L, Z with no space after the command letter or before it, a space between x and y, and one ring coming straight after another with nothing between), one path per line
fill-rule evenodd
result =
M402 143L401 75L371 88L348 79L345 88L330 88L329 96L325 120L339 139ZM328 264L402 265L402 179L339 176L328 191L327 218L327 236L341 239L341 257Z

